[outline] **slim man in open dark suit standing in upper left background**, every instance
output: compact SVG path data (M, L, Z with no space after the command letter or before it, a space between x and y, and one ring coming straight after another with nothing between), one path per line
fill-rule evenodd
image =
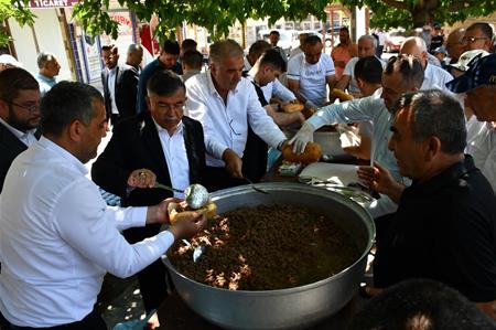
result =
M103 46L101 57L107 66L101 72L105 109L114 126L136 115L139 75L136 67L118 63L119 54L115 45Z

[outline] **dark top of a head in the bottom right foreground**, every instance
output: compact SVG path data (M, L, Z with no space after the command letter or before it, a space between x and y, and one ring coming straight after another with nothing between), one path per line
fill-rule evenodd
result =
M455 289L431 279L409 279L362 307L348 330L363 329L489 330L495 324Z

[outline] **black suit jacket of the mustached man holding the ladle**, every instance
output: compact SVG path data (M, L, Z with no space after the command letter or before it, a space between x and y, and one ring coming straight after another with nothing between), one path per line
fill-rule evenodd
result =
M190 182L203 183L205 143L202 125L188 117L183 117L183 125ZM140 113L116 127L109 143L93 164L91 178L103 189L121 196L127 206L155 205L172 196L172 193L162 189L134 189L127 196L126 188L130 173L143 168L153 171L158 182L171 185L168 163L150 111ZM142 233L136 241L154 235L159 227Z

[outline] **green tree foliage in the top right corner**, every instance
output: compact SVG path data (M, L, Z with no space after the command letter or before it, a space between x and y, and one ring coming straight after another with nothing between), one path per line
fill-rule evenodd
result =
M496 11L495 0L342 0L346 6L366 4L371 9L370 25L406 29L425 23L464 21Z

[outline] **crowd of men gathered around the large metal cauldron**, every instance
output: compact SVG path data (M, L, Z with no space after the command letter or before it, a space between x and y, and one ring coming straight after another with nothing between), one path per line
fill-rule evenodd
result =
M278 46L277 31L247 55L233 40L217 41L208 68L190 39L165 41L144 67L141 45L131 44L123 63L109 44L101 47L103 93L57 82L53 54L37 56L36 77L4 57L1 329L107 329L94 310L107 272L138 274L144 309L153 311L172 289L160 256L206 222L190 212L170 225L168 204L184 195L155 183L216 191L258 182L269 150L303 153L315 130L336 124L358 126L360 143L347 151L373 161L357 175L380 194L368 210L377 252L374 287L364 292L380 297L403 280L438 280L472 301L460 298L467 315L489 324L496 319L494 33L474 23L444 42L433 28L431 39L407 38L387 61L377 55L377 35L355 44L347 28L331 55L311 33L300 35L291 54ZM335 102L336 91L348 100ZM280 110L294 103L313 116ZM110 127L89 180L84 164ZM299 130L288 139L287 127ZM121 206L106 205L99 188Z

